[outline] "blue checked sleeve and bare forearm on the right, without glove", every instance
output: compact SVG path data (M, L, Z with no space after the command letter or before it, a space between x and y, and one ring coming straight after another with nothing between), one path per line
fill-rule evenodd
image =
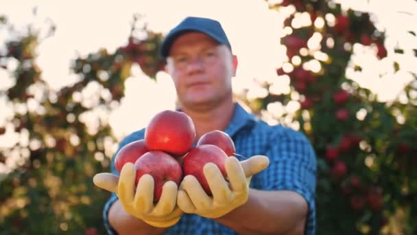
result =
M271 137L270 166L252 179L248 202L218 219L241 234L314 234L317 163L308 139L289 128ZM238 223L245 221L245 223Z

